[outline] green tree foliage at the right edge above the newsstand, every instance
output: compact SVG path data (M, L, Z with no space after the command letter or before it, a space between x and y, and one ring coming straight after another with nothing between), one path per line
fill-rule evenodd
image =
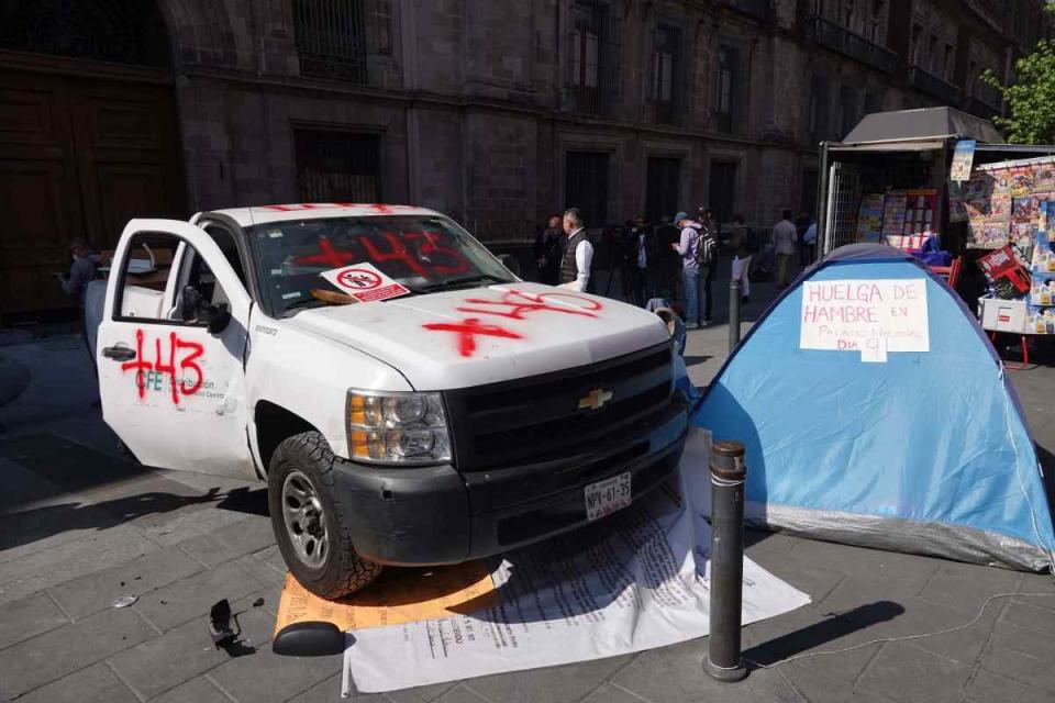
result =
M1003 86L990 70L981 79L1003 94L1007 116L997 126L1012 144L1055 143L1055 42L1041 40L1036 49L1014 63L1015 82Z

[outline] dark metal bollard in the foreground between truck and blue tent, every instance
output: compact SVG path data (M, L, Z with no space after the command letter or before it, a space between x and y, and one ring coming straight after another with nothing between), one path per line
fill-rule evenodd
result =
M744 445L718 442L711 448L711 636L703 668L719 681L741 681L744 585Z

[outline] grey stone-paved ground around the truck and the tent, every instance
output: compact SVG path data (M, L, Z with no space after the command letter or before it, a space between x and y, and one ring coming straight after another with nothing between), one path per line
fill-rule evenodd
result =
M690 333L698 383L724 359L726 332L720 324ZM124 459L91 405L91 369L76 338L0 347L0 356L32 377L18 401L0 408L0 701L337 701L340 658L270 651L285 568L262 487ZM1048 461L1055 369L1012 378ZM1050 576L786 535L753 532L748 542L752 558L813 603L746 627L745 656L771 665L848 651L718 684L700 669L700 639L359 700L1055 701L1055 598L1025 595L1055 595ZM138 601L111 607L126 593ZM970 627L866 644L964 625L1001 593L1015 595L993 601ZM209 607L221 598L245 633L233 655L215 650L208 633Z

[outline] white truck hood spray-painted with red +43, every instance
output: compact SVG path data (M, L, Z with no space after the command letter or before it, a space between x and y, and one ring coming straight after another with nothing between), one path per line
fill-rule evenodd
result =
M585 366L670 338L640 308L525 282L318 308L287 322L392 365L417 390Z

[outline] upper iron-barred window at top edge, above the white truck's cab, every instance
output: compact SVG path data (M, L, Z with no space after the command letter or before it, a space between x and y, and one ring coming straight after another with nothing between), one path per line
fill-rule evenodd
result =
M364 0L293 0L302 75L367 82L364 5Z

